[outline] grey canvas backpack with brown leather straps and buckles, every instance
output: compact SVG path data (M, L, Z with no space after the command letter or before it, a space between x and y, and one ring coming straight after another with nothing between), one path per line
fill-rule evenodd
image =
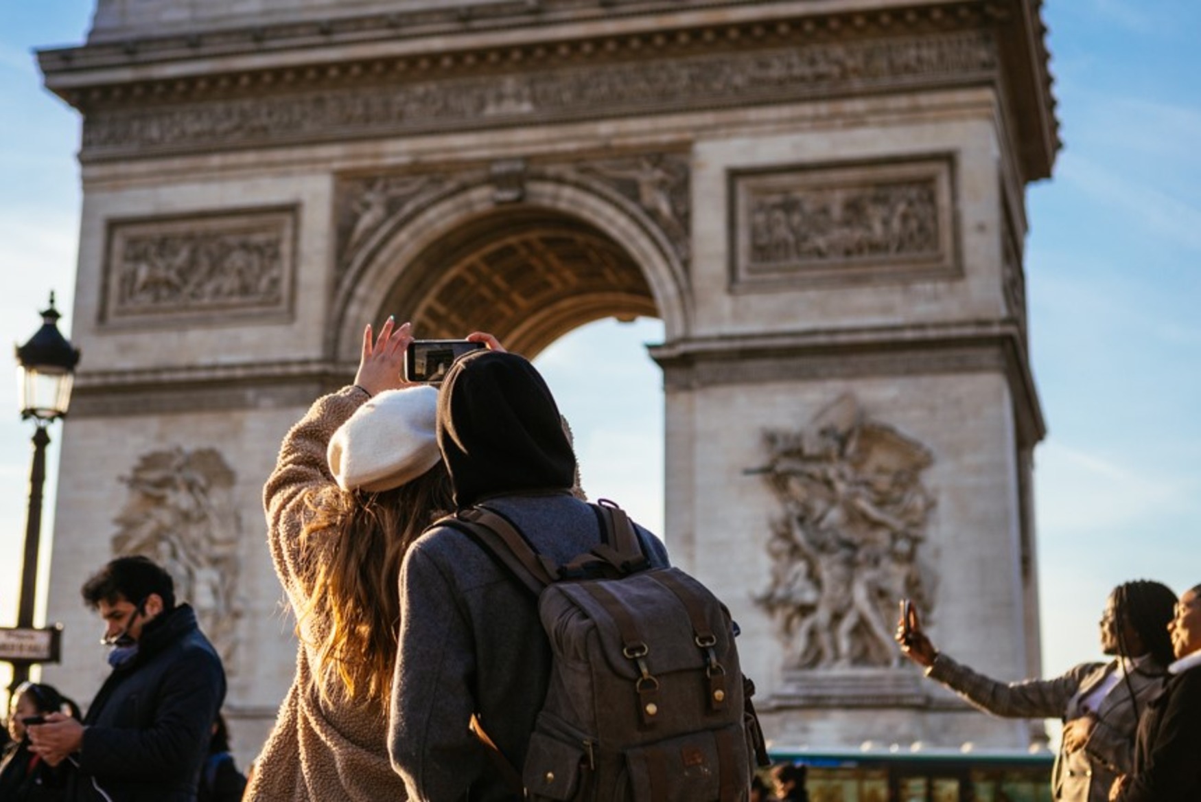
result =
M514 794L556 802L743 802L766 764L729 611L676 568L650 568L629 518L593 505L604 542L556 565L485 506L453 516L538 598L550 687Z

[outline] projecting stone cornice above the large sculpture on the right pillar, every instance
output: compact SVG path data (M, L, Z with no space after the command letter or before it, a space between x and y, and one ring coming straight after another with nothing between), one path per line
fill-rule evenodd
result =
M882 326L691 338L650 349L664 387L861 376L1000 373L1014 397L1018 444L1046 436L1022 332L1012 321Z

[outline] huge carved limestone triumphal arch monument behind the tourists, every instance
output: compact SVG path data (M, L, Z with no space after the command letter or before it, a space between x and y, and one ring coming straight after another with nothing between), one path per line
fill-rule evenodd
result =
M84 125L49 681L98 685L79 584L150 552L253 751L294 654L261 486L363 323L533 355L655 315L668 542L769 736L1024 748L888 637L912 595L950 653L1038 671L1042 38L1036 0L100 0L40 54Z

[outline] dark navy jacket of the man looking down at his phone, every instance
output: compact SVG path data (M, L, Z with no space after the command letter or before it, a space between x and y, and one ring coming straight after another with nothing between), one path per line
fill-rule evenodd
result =
M67 800L102 800L98 784L113 802L192 802L225 693L221 658L190 606L151 620L88 708Z

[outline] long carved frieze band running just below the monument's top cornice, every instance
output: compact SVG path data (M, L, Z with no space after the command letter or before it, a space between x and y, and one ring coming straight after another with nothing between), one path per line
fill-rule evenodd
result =
M978 81L997 66L982 31L927 37L809 42L757 52L693 54L673 60L590 60L586 66L389 83L360 75L319 90L178 106L148 102L86 115L83 156L131 158L211 152L299 141L410 135L787 102L897 83L945 85ZM401 65L404 67L404 65ZM512 69L512 67L510 67ZM386 70L384 73L388 71ZM406 70L401 70L406 75Z

